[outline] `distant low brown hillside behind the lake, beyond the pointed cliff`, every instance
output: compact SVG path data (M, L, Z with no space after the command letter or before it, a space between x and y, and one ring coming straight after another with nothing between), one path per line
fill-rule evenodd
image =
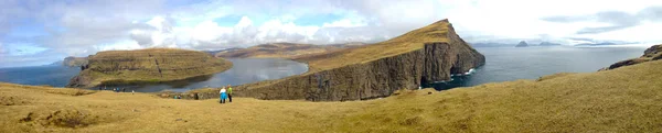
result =
M266 57L266 58L291 58L300 55L325 53L330 51L344 49L361 46L363 43L348 43L334 45L312 45L295 43L269 43L247 48L223 51L215 54L216 57L224 58L246 58L246 57Z

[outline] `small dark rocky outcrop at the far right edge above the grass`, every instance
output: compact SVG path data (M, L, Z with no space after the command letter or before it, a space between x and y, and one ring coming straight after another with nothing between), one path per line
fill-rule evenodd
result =
M621 60L621 62L610 65L609 67L602 68L600 70L616 69L616 68L623 67L623 66L630 66L630 65L634 65L634 64L658 60L661 58L662 58L662 44L659 44L659 45L654 45L654 46L647 48L643 52L643 55L641 57Z

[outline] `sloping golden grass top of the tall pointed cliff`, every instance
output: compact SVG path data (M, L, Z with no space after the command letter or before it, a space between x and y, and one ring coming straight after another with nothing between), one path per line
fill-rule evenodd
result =
M297 60L308 62L312 68L311 70L366 63L420 49L425 43L448 42L447 33L449 32L449 27L452 29L448 19L444 19L388 41L344 51L298 57Z

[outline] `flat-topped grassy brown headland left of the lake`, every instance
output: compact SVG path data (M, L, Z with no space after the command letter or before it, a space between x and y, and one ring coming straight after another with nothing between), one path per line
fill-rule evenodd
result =
M89 64L67 87L88 88L181 80L224 71L232 63L204 52L149 48L108 51L89 56Z

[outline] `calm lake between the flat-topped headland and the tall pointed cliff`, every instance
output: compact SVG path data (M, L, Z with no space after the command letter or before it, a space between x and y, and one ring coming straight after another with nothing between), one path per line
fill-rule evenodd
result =
M156 91L188 91L197 88L220 88L223 86L243 85L269 79L279 79L308 71L308 65L280 58L228 58L232 68L209 76L200 76L186 80L161 82L141 86L108 86L127 88L127 91L156 92Z

